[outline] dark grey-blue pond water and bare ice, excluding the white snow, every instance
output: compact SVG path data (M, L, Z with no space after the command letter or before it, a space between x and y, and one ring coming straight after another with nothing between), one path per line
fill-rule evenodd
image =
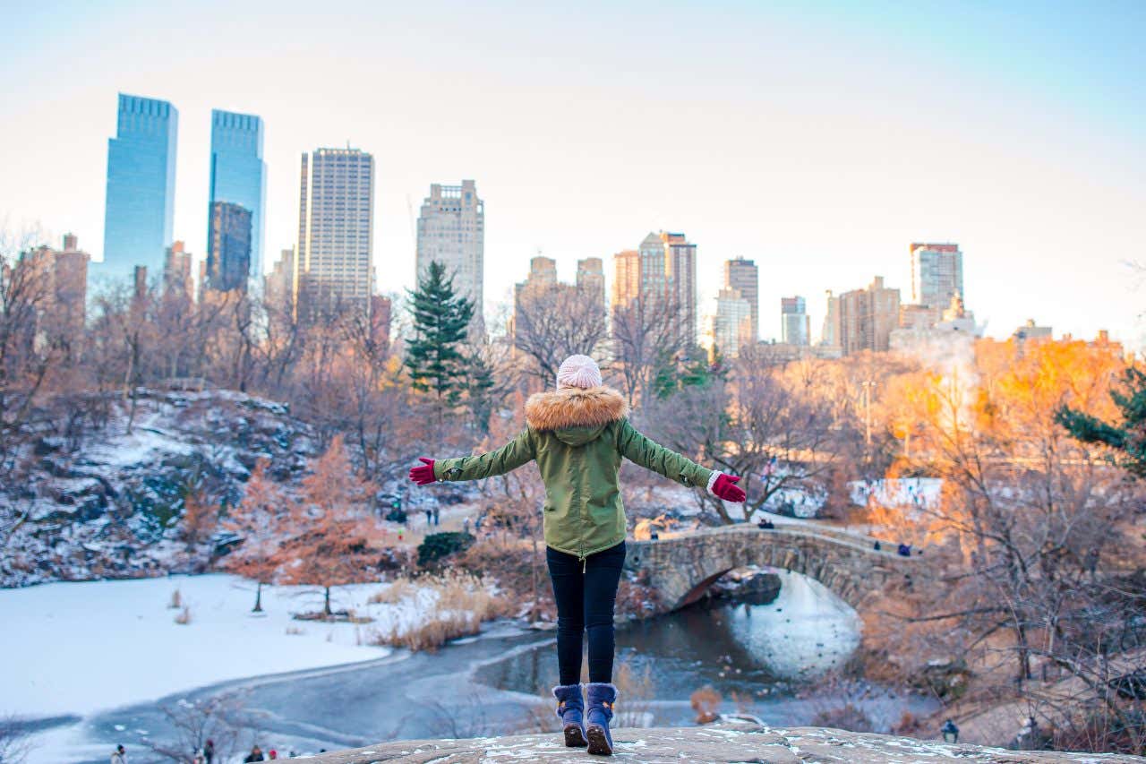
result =
M858 641L846 605L798 576L782 576L771 602L702 605L618 630L618 711L623 724L692 724L689 696L711 685L722 710L744 710L770 724L808 724L816 714L854 701L886 728L906 709L933 707L913 696L861 687L801 697L808 680L842 664ZM818 588L817 588L818 587ZM392 739L464 738L536 731L549 718L548 688L557 673L551 632L494 624L481 637L438 653L398 652L350 666L241 680L123 708L68 728L32 758L107 762L117 742L129 761L155 761L143 738L175 736L164 707L220 694L242 703L257 730L240 742L264 750L314 753ZM625 717L628 700L629 716Z

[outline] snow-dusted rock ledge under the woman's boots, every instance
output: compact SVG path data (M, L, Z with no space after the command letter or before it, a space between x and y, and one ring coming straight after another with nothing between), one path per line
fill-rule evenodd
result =
M777 728L755 724L706 727L614 730L614 759L625 762L738 762L739 764L809 764L840 762L1146 762L1136 756L1012 751L980 746L947 744L911 738L862 734L823 727ZM560 735L534 734L469 740L402 740L368 748L323 754L309 759L322 764L462 764L482 762L606 762L583 748L564 748Z

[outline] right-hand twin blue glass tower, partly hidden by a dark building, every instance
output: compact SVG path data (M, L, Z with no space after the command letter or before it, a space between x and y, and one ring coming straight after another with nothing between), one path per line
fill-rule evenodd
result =
M251 212L252 283L262 278L262 227L267 202L267 165L262 161L262 118L211 110L211 188L209 212L215 202L237 204ZM207 260L211 259L207 236Z

